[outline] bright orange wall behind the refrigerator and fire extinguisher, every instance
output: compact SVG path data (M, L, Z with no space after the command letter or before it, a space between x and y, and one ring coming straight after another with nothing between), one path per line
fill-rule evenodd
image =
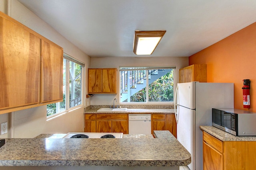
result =
M250 109L256 112L256 22L189 57L207 64L207 82L233 82L234 107L243 108L243 79L250 79Z

